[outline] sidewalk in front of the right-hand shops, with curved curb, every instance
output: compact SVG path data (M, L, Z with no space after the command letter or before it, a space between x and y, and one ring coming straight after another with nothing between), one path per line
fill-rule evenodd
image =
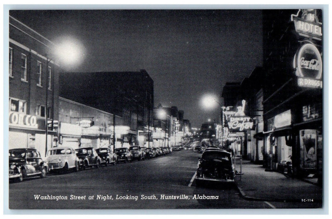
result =
M240 164L235 169L240 172ZM322 200L322 188L277 172L266 172L262 165L242 161L241 180L236 184L245 199L264 201L298 201L299 199Z

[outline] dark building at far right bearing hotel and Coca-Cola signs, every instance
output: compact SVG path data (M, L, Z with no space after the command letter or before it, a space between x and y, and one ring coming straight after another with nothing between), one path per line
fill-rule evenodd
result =
M322 11L264 10L267 166L322 175Z

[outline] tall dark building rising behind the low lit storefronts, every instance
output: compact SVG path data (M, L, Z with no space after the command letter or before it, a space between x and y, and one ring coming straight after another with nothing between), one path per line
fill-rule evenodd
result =
M60 96L114 113L130 127L123 141L138 144L138 132L153 126L153 80L137 72L66 72L60 74ZM145 141L152 141L147 136Z

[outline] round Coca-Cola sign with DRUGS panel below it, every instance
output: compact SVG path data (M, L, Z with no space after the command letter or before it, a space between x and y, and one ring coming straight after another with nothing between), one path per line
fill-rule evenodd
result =
M322 88L322 58L311 43L302 45L294 56L293 67L299 87Z

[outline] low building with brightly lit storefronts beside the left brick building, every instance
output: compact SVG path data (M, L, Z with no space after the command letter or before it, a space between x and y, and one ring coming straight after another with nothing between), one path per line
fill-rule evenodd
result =
M119 116L115 116L115 121L123 122ZM58 131L61 146L113 149L113 114L62 97L59 97ZM116 128L115 148L122 147L122 134Z

